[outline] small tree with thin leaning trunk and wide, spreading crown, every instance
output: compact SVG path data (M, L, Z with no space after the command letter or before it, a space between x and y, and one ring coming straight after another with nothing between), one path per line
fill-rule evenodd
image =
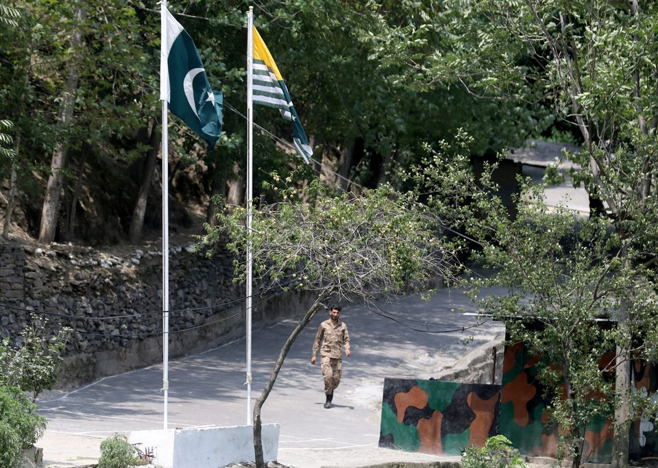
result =
M212 256L212 245L228 237L236 258L236 280L245 281L245 250L252 245L254 279L261 293L271 289L311 291L313 304L279 352L265 389L254 404L256 465L263 467L260 441L261 408L295 338L328 301L371 301L391 295L424 291L428 281L452 278L459 262L447 238L422 206L404 195L393 200L382 188L365 195L330 195L317 182L308 194L290 186L292 178L264 184L279 201L254 210L252 231L244 227L245 210L233 208L218 227L207 226L202 244ZM304 197L315 199L305 204ZM220 227L221 226L221 227Z

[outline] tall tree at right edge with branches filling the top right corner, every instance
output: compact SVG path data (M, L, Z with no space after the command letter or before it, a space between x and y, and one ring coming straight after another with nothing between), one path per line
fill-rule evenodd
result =
M420 5L426 11L433 2ZM592 213L607 218L624 239L620 258L633 271L655 262L655 172L658 125L654 3L571 1L454 1L435 21L401 29L382 19L378 56L407 64L419 86L452 82L490 99L544 103L572 125L582 151L568 155L579 167ZM437 32L439 42L433 41ZM395 53L391 53L395 51ZM391 58L385 59L387 53ZM642 278L642 274L640 274ZM616 391L629 399L629 310L618 310L620 341ZM615 466L627 462L629 407L620 404Z

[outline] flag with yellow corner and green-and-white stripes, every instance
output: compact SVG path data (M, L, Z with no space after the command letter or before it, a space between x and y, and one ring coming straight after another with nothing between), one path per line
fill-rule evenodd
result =
M277 108L284 119L291 121L293 124L293 142L295 149L304 162L308 164L313 156L313 149L308 145L308 138L304 133L304 128L297 116L297 111L293 106L293 101L288 93L288 88L281 77L274 59L269 53L269 49L263 42L263 38L258 34L254 27L254 58L253 58L254 82L252 91L254 93L254 103L263 104Z

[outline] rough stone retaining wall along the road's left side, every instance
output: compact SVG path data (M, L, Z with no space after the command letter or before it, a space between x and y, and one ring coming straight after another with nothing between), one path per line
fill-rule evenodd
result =
M171 358L244 336L245 290L232 278L227 251L208 259L191 246L170 249ZM20 345L23 326L35 319L47 319L50 330L72 328L65 389L162 362L161 283L160 251L135 249L122 258L69 245L0 244L0 337ZM298 315L310 300L254 297L253 326Z

